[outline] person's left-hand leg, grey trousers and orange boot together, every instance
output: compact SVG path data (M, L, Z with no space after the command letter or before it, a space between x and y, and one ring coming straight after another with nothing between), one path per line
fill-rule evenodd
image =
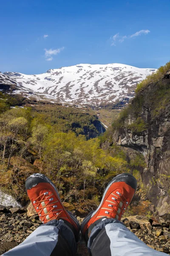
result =
M79 222L66 211L54 184L40 173L26 180L27 194L42 225L5 256L74 256L77 251Z

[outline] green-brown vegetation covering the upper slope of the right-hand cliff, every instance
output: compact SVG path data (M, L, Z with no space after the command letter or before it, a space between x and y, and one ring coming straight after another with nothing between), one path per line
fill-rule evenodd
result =
M149 128L149 119L146 118L146 112L150 110L150 120L156 119L170 102L170 84L169 79L163 78L167 71L170 70L170 62L158 71L147 76L136 89L136 96L131 100L127 107L119 113L114 120L112 129L104 134L102 142L113 134L118 128L127 128L132 132L142 132ZM169 76L169 74L167 74ZM151 87L147 87L149 84ZM147 90L142 90L146 88ZM131 124L129 124L131 122Z

